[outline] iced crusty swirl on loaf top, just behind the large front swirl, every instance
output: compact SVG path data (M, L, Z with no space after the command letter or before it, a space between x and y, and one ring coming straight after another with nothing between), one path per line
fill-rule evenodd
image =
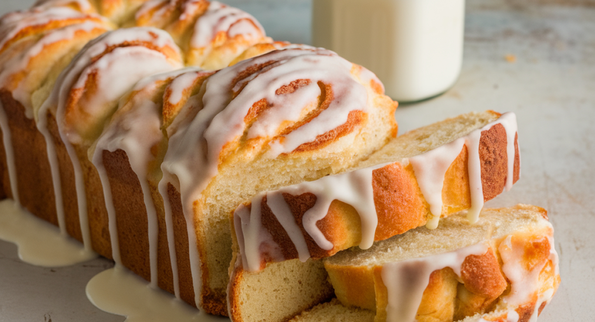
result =
M149 27L109 31L89 42L62 71L44 106L55 113L65 141L90 145L120 97L137 81L181 67L180 50L165 31Z

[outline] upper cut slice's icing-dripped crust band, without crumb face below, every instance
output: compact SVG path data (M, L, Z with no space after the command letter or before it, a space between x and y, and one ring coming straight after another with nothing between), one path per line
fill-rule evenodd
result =
M486 140L482 141L484 142L483 149L500 151L496 153L496 157L501 160L500 163L503 163L501 167L498 165L499 162L483 160L488 157L488 153L480 151L480 141L483 140L483 135L486 133L488 133ZM494 142L490 140L494 140ZM379 222L384 222L383 216L386 212L378 211L377 209L381 209L379 205L384 199L396 197L390 193L378 195L375 181L381 180L377 178L380 175L378 171L395 165L399 169L412 165L416 184L425 198L423 202L429 204L431 215L433 215L427 219L428 226L435 227L441 214L444 216L449 214L443 209L443 182L447 179L447 171L458 159L462 150L468 153L468 161L466 161L468 169L464 169L468 175L462 173L459 177L464 178L456 178L456 180L460 182L459 185L469 186L471 209L468 217L471 222L474 222L477 220L479 210L483 207L484 200L489 200L502 192L503 187L509 190L512 183L518 179L518 172L515 173L515 169L518 171L516 117L513 113L500 115L496 112L486 111L447 119L390 141L387 146L372 154L368 160L353 167L351 171L256 195L252 198L251 204L240 206L234 213L234 228L240 254L245 260L245 269L258 270L259 267L262 267L263 261L267 260L266 258L274 261L297 258L297 256L301 260L306 260L311 256L321 258L352 246L349 243L343 245L329 240L327 235L333 231L339 231L338 235L349 235L353 234L353 231L361 231L359 239L350 243L359 242L362 248L367 248L375 239L388 238L406 229L423 225L426 222L425 218L422 218L418 224L409 225L408 223L409 226L406 229L393 230L390 222L386 224L387 226L378 225ZM480 159L483 160L483 164ZM387 163L387 160L390 160L390 163ZM484 195L486 188L482 186L486 179L484 177L487 177L485 173L495 171L500 173L501 178L497 178L494 182L502 182L502 185L496 185L499 187L499 191L495 194ZM465 181L467 176L468 183ZM415 197L405 198L406 200L419 199L417 187L399 187L393 190L396 195L406 193L415 195ZM311 198L313 201L300 203L288 201L292 198L299 198L302 201ZM321 220L327 217L327 212L331 213L332 205L336 200L343 201L355 208L356 216L359 215L358 218L339 219L340 222L354 221L355 227L343 228L343 226L337 226L337 223L321 225ZM406 201L391 206L400 207L408 203L409 201ZM297 207L297 211L295 204L301 205ZM456 206L461 207L462 205ZM304 207L306 208L303 209ZM421 207L424 207L423 204ZM466 209L466 207L468 206L459 209ZM270 213L272 216L269 216ZM347 217L351 212L343 211L343 213L345 213L343 217ZM279 224L270 225L265 222L265 219ZM396 222L393 225L400 225L400 223ZM386 230L386 233L378 232L377 228ZM281 235L278 229L286 233L287 238ZM342 229L345 229L345 232L342 233ZM266 244L267 247L262 248L262 244ZM284 248L292 250L295 248L296 251L287 252L284 251ZM268 253L262 249L267 249ZM319 249L321 251L318 251Z

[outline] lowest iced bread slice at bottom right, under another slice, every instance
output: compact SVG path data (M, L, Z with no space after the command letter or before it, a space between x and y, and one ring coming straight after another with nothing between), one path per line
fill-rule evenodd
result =
M558 288L558 255L547 212L519 204L463 215L324 260L343 305L375 321L456 321L508 311L536 317Z

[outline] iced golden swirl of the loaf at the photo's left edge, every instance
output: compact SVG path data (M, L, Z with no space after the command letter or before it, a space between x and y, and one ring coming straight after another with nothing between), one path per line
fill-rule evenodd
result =
M70 8L12 12L0 20L0 86L12 92L28 118L40 104L32 94L57 77L89 40L113 29L100 15L83 14ZM48 79L49 78L49 79Z

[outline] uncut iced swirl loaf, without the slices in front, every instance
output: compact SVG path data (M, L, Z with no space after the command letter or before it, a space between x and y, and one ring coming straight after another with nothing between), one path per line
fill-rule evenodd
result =
M25 80L5 77L6 120L29 122L3 128L7 154L15 136L37 142L14 149L25 151L22 164L6 158L5 178L9 168L18 178L7 192L29 194L21 198L28 209L87 250L226 314L229 211L258 191L342 171L379 149L396 134L396 103L373 74L328 50L273 43L242 58L287 50L236 59L271 42L245 12L208 1L142 2L39 1L5 17L1 61L21 59L33 46L46 66L30 73L15 65L13 74ZM17 16L21 22L12 23ZM61 51L37 50L46 34ZM231 61L214 75L181 69ZM252 179L240 184L237 173Z

